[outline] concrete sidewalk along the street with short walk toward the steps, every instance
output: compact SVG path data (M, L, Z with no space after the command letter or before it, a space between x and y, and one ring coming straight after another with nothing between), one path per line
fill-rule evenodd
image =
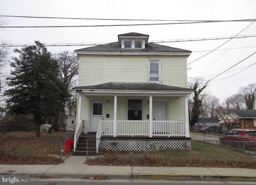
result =
M256 169L215 167L90 166L85 156L68 157L58 165L0 165L1 175L108 179L194 179L256 181Z

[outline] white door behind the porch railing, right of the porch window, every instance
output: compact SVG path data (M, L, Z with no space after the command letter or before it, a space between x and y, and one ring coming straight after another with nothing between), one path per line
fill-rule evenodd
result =
M167 101L153 101L154 133L166 133L167 123Z

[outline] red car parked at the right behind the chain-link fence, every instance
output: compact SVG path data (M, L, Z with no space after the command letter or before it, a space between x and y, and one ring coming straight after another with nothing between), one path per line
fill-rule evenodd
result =
M256 147L256 129L231 129L220 136L220 144L245 149Z

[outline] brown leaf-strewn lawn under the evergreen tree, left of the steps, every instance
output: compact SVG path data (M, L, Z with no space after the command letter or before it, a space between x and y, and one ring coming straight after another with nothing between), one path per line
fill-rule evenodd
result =
M0 164L58 164L60 161L60 140L64 149L64 132L41 133L35 131L14 131L0 133ZM68 157L72 152L63 152Z

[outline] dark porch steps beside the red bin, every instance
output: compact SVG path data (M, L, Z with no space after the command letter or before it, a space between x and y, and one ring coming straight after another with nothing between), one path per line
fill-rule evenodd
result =
M96 155L96 134L88 133L79 137L74 155Z

